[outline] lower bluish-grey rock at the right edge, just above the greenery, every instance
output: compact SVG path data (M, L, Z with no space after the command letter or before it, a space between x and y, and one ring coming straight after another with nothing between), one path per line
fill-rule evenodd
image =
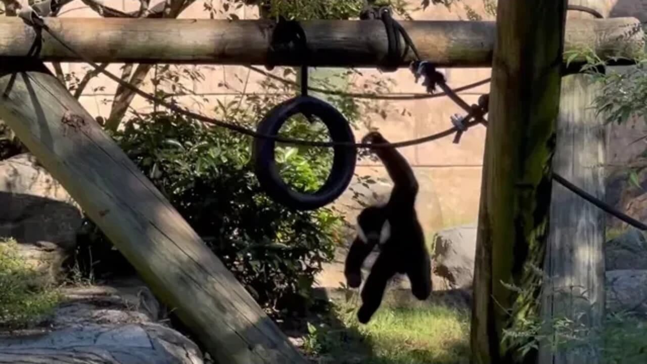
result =
M647 270L606 272L606 310L647 314Z

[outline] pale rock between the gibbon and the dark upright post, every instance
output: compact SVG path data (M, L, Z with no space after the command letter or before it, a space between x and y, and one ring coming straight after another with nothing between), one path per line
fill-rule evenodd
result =
M463 225L435 234L432 269L434 275L442 279L441 287L434 287L435 290L472 286L474 255L476 255L476 231L476 225Z

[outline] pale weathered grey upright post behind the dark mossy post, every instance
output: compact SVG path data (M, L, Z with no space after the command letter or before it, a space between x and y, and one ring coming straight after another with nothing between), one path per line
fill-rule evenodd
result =
M570 0L569 4L595 8L602 16L611 11L607 0ZM593 16L569 10L567 22L578 17ZM589 75L562 78L553 170L604 201L604 120L593 109L598 91ZM539 363L597 364L604 319L605 213L553 183L550 225L542 293L542 319L550 341L541 343ZM553 326L562 319L572 320L578 330L587 329L575 334L584 339L584 345L560 345L565 338Z

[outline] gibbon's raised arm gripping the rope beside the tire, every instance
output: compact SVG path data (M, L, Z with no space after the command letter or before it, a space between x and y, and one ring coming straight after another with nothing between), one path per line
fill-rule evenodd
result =
M382 137L382 134L377 131L368 133L364 137L364 141L370 141L374 144L387 143L388 141ZM418 194L418 181L415 179L413 170L409 163L404 159L402 154L398 152L395 148L375 148L373 152L377 154L382 163L386 167L386 171L393 181L393 194L402 194L406 193L406 196L415 196Z

